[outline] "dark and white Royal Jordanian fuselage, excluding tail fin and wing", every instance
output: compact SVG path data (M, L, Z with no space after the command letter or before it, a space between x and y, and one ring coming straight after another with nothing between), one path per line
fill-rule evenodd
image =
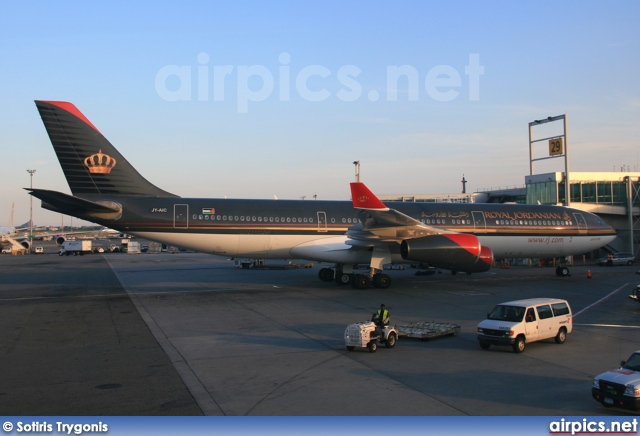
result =
M360 223L350 201L98 197L120 206L115 219L83 216L122 232L200 252L250 258L366 263L348 250L347 230ZM497 258L586 253L615 234L577 209L504 204L401 203L392 207L426 225L474 234ZM394 263L403 262L392 250Z

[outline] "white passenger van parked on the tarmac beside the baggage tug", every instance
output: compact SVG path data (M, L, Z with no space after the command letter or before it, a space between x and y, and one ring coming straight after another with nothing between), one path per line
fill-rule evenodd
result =
M558 344L571 333L571 307L566 300L532 298L498 304L478 324L480 348L511 345L522 353L525 343L554 338Z

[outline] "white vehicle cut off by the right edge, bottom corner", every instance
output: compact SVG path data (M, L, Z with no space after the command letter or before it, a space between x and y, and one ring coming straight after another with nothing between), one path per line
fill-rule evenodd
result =
M605 407L640 410L640 350L620 362L620 368L597 375L591 395Z

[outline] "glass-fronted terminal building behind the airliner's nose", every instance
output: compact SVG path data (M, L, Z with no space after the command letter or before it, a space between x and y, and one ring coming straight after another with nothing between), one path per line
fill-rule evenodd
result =
M640 172L570 172L568 202L564 174L528 175L525 176L524 187L520 188L491 189L471 194L393 194L379 197L382 201L571 206L600 216L618 233L611 244L592 253L592 257L616 252L631 252L637 256L640 248Z

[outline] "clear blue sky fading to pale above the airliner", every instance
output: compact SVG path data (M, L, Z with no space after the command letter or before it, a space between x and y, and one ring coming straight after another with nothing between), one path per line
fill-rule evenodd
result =
M6 1L2 16L0 225L12 204L28 221L31 181L70 193L34 100L72 102L183 197L348 200L354 161L380 195L457 193L463 175L467 192L520 187L529 123L563 114L571 171L640 170L637 1ZM62 221L36 199L33 219Z

